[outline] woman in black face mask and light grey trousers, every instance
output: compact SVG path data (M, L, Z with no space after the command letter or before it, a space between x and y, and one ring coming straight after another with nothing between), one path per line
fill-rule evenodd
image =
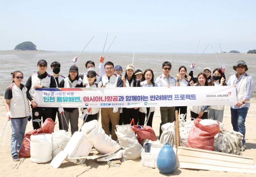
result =
M215 68L212 72L212 81L209 82L209 86L225 86L225 79L220 68ZM208 118L213 118L219 122L223 121L224 105L210 106L208 111Z

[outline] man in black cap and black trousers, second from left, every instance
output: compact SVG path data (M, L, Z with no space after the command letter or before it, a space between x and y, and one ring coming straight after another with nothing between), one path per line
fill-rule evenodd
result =
M56 82L54 76L47 74L47 62L45 60L39 60L37 62L38 72L31 75L28 78L26 87L28 88L29 94L28 99L31 102L32 108L32 120L42 119L43 122L52 116L52 108L48 107L37 107L35 102L35 89L36 88L56 88ZM34 129L39 129L39 124L37 122L32 122Z

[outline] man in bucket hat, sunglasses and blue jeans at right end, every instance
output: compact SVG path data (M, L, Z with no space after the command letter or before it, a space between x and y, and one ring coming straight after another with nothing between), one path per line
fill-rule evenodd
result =
M245 72L248 70L246 63L240 60L233 66L236 74L233 74L228 79L227 85L236 87L236 105L231 105L231 124L234 131L238 131L245 138L245 118L250 108L250 99L253 94L254 82L252 77ZM242 150L244 149L245 139L242 140Z

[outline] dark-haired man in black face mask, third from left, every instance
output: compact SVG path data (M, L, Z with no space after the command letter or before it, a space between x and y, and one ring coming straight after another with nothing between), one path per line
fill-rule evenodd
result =
M57 87L59 87L60 82L65 79L66 77L63 75L60 75L60 63L57 61L52 62L51 64L51 70L52 70L52 75L55 79ZM56 119L56 114L58 116L59 120L59 129L61 130L61 123L60 123L60 116L58 114L58 108L52 108L52 120L55 122Z

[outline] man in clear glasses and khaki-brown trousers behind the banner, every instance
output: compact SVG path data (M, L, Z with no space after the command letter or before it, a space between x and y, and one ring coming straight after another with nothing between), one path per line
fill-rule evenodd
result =
M114 73L114 64L108 61L104 65L105 72L103 76L100 77L99 87L123 87L124 82L121 76ZM112 134L111 138L117 140L116 136L116 125L119 121L120 108L101 108L101 124L102 129L109 136L109 120L112 123Z

